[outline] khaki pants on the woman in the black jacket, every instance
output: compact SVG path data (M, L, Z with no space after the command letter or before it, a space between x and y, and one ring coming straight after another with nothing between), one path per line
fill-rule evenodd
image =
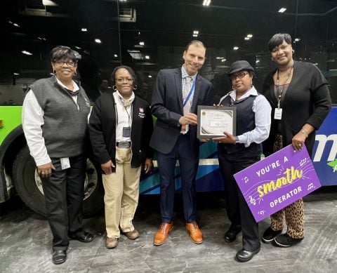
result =
M103 175L107 237L131 232L139 197L140 169L131 168L131 148L116 147L116 172Z

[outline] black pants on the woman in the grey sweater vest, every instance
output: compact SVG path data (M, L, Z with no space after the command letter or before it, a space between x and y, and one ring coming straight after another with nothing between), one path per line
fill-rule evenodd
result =
M82 232L82 204L86 157L70 157L70 168L61 169L60 159L51 159L56 170L42 178L46 211L53 234L53 250L67 250L68 233Z

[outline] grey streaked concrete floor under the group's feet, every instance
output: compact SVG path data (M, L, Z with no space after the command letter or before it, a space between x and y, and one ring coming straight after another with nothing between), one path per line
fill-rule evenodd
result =
M96 234L91 243L71 241L67 261L51 262L51 232L45 218L16 198L0 216L0 272L336 272L337 187L324 187L305 197L305 239L291 248L262 244L253 260L236 262L242 237L227 244L223 235L230 223L221 193L198 194L199 225L204 243L187 235L176 197L176 221L162 246L152 244L160 223L158 196L141 196L134 224L140 238L124 236L117 248L105 248L103 213L86 219ZM260 234L269 219L260 222Z

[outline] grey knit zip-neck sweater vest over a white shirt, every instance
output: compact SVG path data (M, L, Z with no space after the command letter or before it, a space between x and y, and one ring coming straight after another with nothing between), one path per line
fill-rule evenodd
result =
M90 102L79 86L77 104L55 76L39 79L29 86L44 110L42 136L49 157L76 157L84 153Z

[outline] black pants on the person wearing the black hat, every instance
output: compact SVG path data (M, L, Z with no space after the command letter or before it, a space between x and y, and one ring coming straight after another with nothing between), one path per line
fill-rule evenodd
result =
M227 154L224 147L218 145L218 159L221 175L225 183L226 211L232 227L242 227L242 245L246 251L255 251L260 247L258 223L246 204L234 174L251 166L259 160L259 155L247 157L246 150Z

